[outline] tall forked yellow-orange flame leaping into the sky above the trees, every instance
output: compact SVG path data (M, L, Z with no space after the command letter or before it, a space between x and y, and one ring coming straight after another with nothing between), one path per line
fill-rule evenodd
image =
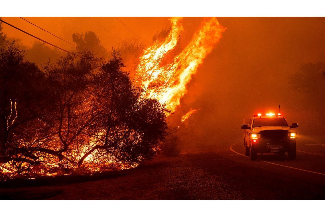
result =
M183 31L182 18L172 18L171 31L162 42L155 42L145 50L137 67L136 81L145 90L145 97L165 103L171 112L176 110L186 94L186 85L203 59L212 51L226 30L216 18L205 19L188 45L171 63L162 65L164 57L175 48Z

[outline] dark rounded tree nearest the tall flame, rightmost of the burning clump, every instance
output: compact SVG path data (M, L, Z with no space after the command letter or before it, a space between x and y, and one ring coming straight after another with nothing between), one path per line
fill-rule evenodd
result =
M96 101L101 102L98 121L89 134L93 147L79 160L81 165L90 154L96 159L138 163L152 158L165 135L165 108L154 99L140 98L119 53L102 64L96 76ZM96 152L95 152L96 151Z

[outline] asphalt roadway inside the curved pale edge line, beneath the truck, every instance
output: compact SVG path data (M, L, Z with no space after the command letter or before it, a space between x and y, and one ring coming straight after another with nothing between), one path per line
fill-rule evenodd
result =
M324 142L300 136L297 140L297 157L295 160L288 160L287 156L281 157L272 153L258 155L256 162L247 160L248 157L244 156L242 142L232 144L229 149L238 156L241 156L238 157L238 162L272 170L306 182L325 185Z

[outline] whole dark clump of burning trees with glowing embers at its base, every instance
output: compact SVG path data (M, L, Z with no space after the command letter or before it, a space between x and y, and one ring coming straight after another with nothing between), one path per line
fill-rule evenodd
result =
M133 166L154 156L166 109L141 91L113 51L107 62L89 50L44 71L14 44L1 52L2 173L66 174Z

